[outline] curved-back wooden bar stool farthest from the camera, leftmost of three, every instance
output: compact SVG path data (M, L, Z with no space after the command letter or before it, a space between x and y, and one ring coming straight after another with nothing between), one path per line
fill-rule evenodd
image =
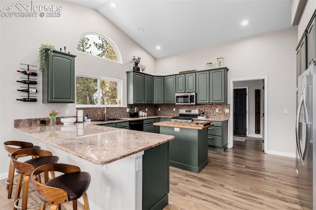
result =
M12 152L18 150L18 149L26 149L26 148L31 148L31 149L40 149L40 146L34 146L33 143L31 142L25 142L25 141L17 141L17 140L9 140L5 141L3 143L4 149L8 152L8 156L11 155ZM11 161L9 163L9 171L8 171L8 179L5 181L6 182L6 189L8 190L8 199L11 198L12 196L12 187L14 179L14 167L11 164Z

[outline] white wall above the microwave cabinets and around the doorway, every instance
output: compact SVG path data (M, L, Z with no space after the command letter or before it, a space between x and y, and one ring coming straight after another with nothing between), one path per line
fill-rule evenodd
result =
M297 27L291 27L158 59L156 73L203 70L208 61L223 56L229 81L268 76L268 151L295 157L296 45Z

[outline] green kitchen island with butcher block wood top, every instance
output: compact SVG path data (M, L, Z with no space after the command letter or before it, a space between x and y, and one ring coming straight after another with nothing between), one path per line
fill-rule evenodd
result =
M207 165L207 128L211 121L157 122L160 134L172 135L175 140L169 142L170 166L199 173Z

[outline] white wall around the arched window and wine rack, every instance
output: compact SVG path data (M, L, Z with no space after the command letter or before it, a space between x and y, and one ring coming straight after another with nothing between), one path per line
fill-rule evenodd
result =
M15 0L1 0L0 8L10 6ZM142 63L147 66L148 73L154 73L156 59L140 47L128 35L124 34L112 22L94 9L83 7L67 1L33 1L33 4L62 5L61 17L16 18L0 17L0 139L29 140L13 129L14 119L47 117L46 110L59 110L64 116L69 109L71 115L76 115L75 104L42 104L41 73L38 78L38 102L23 103L16 101L20 93L16 89L20 86L16 82L20 74L16 72L20 63L39 65L40 44L53 44L56 49L64 48L75 59L76 72L96 74L123 80L123 99L126 99L126 73L130 70L129 61L132 56L140 56ZM76 43L80 36L88 31L97 31L109 36L120 50L123 64L76 52ZM2 91L5 90L5 91ZM124 102L126 105L126 101ZM0 174L7 172L9 158L3 147L0 149Z

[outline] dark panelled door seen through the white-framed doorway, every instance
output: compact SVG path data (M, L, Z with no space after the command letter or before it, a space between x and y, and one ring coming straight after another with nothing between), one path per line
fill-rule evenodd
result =
M234 89L234 134L247 135L246 120L247 106L246 88Z

